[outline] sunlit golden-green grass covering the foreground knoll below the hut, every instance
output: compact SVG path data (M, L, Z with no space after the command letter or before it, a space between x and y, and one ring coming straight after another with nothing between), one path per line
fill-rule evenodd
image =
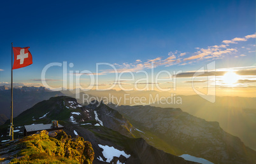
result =
M82 137L71 140L65 132L60 132L57 137L52 138L46 131L41 131L39 134L20 139L18 146L23 149L11 163L92 163L94 158L87 158L94 156L90 142L84 141ZM85 147L91 149L93 154L84 154Z

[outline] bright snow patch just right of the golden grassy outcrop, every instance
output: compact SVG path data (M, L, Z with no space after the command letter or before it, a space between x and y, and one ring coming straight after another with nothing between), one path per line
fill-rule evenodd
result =
M117 156L117 158L119 158L121 155L125 156L125 158L129 158L131 156L130 154L126 154L124 151L115 149L113 146L103 146L101 144L98 144L98 146L103 149L103 156L107 159L106 162L108 163L113 160L114 156Z

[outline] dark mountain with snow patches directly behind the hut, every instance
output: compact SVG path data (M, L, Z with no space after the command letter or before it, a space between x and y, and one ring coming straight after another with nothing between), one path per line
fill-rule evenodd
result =
M95 153L94 163L194 163L165 153L135 137L140 132L118 111L105 104L95 101L81 106L71 97L52 97L19 114L13 120L15 137L22 137L22 125L51 123L51 120L59 120L65 127L64 131L72 137L79 135L89 140ZM8 122L1 126L1 134L6 133L7 127ZM108 149L116 154L107 156Z

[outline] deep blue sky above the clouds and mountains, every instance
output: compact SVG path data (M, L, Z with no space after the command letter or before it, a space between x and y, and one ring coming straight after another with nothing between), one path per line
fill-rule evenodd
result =
M139 60L144 65L171 55L176 61L159 64L157 69L192 71L210 60L217 60L219 68L255 65L255 38L245 38L255 34L254 0L2 1L0 17L1 83L10 82L11 42L31 47L34 63L13 71L14 81L20 83L32 83L45 65L63 61L72 62L74 71L92 72L97 62L132 69ZM185 59L200 54L201 48L225 45L224 40L234 38L246 41L237 39L217 50L229 48L231 53ZM61 69L52 69L46 78L61 79L61 74ZM111 76L104 75L106 79L107 75Z

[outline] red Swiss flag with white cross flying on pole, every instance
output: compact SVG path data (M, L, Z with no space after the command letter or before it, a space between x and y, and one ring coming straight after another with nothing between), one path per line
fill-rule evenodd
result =
M27 65L32 64L32 55L29 51L29 46L25 48L13 47L13 55L13 69L27 67Z

